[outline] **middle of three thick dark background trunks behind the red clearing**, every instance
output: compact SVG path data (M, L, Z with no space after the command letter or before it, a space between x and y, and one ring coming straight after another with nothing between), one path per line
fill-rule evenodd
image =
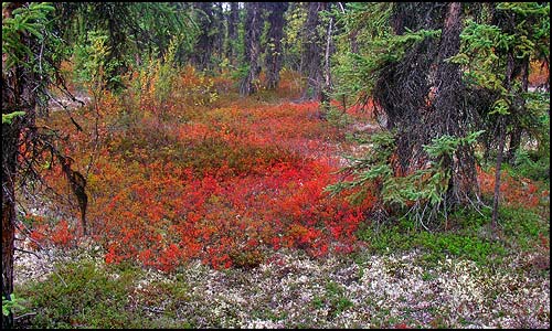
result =
M282 38L284 35L284 13L288 8L287 2L266 2L268 11L268 43L266 45L266 88L275 89L279 83L282 68Z

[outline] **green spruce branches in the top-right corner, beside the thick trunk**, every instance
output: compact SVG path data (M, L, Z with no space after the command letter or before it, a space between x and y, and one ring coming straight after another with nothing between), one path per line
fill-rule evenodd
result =
M481 111L484 125L492 127L503 116L511 124L508 131L522 130L549 149L550 129L542 126L542 119L550 117L550 94L524 90L524 76L507 77L507 73L509 67L529 70L531 62L549 62L550 3L499 2L492 7L496 18L466 20L460 51L448 61L463 66L469 88L492 95L490 107ZM497 139L490 130L488 134L487 141Z

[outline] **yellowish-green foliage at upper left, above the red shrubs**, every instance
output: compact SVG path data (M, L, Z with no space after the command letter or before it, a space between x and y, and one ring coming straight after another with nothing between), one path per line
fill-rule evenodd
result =
M183 63L193 51L198 26L191 19L194 11L183 11L181 6L164 2L60 6L63 12L68 12L62 32L75 45L79 78L85 81L102 68L103 87L121 92L125 87L121 76L129 68L151 57L162 58L169 47L173 49L172 56Z

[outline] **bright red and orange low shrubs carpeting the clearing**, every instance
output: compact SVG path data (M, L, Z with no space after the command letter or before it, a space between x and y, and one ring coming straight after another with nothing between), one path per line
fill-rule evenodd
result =
M221 97L216 107L195 105L197 98L182 90L206 82L197 75L184 72L162 114L151 90L103 96L98 145L89 139L95 134L92 108L75 114L84 132L50 122L68 132L65 149L75 168L84 172L93 166L87 220L93 239L107 252L106 263L129 260L172 271L190 259L214 268L253 267L283 247L312 257L354 250L360 245L354 233L375 197L353 206L323 192L337 181L340 153L347 153L344 129L320 120L318 103L267 105ZM280 94L295 92L293 78L283 75ZM209 84L230 88L225 79ZM362 120L371 116L358 107L347 113ZM62 179L54 169L46 181L67 192ZM487 173L480 172L480 180L484 191L491 188ZM512 185L505 181L508 201L537 194L531 184L524 191ZM75 220L39 220L32 236L75 245Z

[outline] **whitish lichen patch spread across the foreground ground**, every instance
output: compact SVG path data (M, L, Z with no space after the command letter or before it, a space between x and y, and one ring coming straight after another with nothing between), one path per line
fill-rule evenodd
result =
M427 267L422 254L364 252L355 263L282 249L250 270L194 261L171 275L142 273L131 302L194 328L550 327L550 277L520 268L530 257L490 270L457 257Z

